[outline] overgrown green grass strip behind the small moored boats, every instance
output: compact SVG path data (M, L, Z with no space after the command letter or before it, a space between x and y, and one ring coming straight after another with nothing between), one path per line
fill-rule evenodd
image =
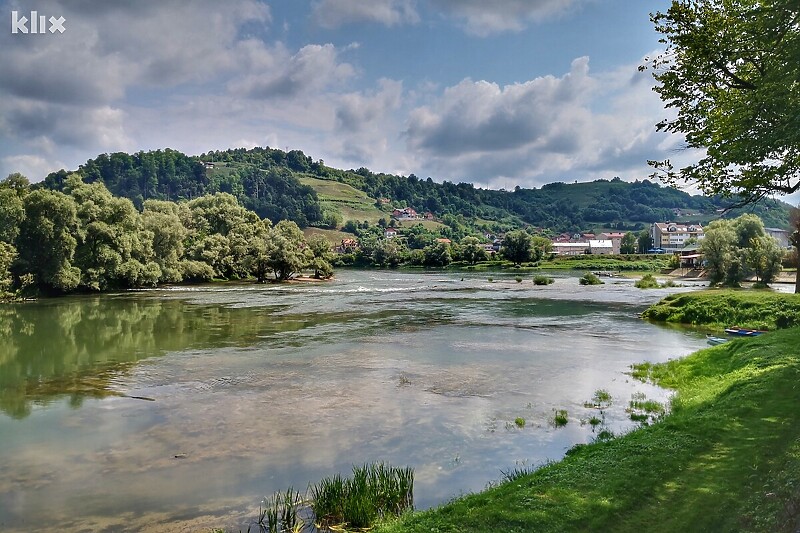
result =
M800 325L800 295L757 290L707 290L668 296L642 317L659 322L778 329Z

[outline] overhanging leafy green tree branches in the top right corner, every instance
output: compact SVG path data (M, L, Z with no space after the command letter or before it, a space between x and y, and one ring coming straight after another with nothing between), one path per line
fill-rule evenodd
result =
M651 20L666 51L641 69L675 110L657 129L705 150L677 171L651 161L657 172L743 201L800 189L800 3L673 0Z

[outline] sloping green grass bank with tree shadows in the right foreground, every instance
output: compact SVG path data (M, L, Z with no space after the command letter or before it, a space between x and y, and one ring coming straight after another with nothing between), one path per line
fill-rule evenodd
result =
M676 390L660 422L376 531L796 531L800 328L639 375Z

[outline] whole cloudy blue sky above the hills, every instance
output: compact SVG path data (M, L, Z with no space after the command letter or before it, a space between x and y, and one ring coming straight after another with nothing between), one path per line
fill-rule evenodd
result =
M667 111L637 69L668 5L0 0L0 176L270 146L491 188L645 179L648 159L696 157L656 132ZM32 10L63 33L22 33Z

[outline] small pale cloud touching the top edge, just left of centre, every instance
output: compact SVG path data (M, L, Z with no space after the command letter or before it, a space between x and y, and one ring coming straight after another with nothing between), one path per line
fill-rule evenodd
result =
M320 0L313 4L311 17L324 28L357 22L377 22L385 26L419 22L413 0Z

